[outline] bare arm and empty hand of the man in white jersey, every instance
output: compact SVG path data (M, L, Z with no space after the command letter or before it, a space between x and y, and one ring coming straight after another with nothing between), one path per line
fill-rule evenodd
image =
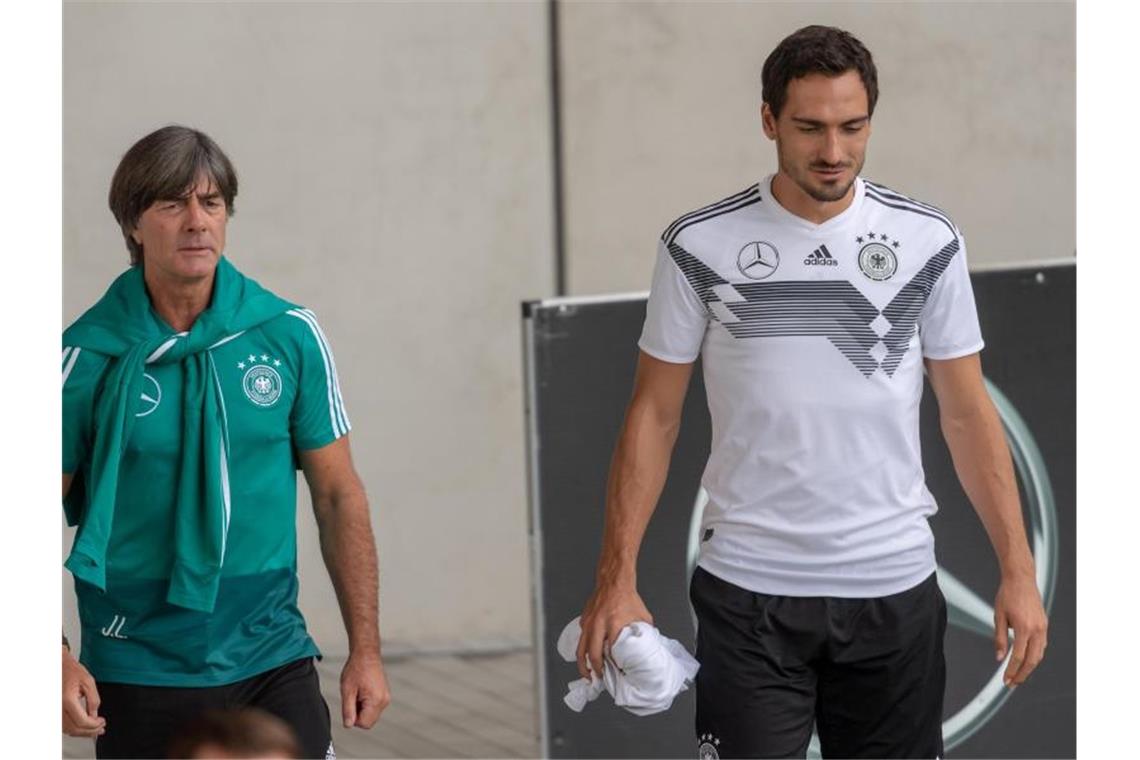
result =
M978 354L928 359L926 366L954 471L997 555L1001 586L994 600L994 648L997 660L1005 656L1012 628L1013 654L1004 680L1007 686L1017 686L1044 656L1049 621L1037 590L1009 447L986 392Z

